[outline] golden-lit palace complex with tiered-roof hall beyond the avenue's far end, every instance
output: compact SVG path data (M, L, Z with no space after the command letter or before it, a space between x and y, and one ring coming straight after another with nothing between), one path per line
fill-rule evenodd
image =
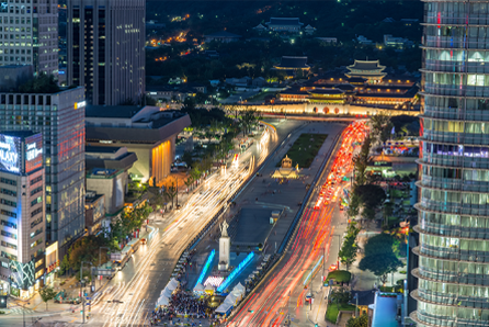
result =
M278 95L282 103L341 103L391 109L417 104L418 86L412 77L389 76L378 60L348 66L349 71L330 71L292 87ZM322 110L322 106L318 106Z

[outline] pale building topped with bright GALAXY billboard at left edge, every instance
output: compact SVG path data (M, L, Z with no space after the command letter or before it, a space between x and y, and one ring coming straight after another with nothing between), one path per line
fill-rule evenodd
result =
M44 182L42 135L0 133L0 283L24 300L44 285Z

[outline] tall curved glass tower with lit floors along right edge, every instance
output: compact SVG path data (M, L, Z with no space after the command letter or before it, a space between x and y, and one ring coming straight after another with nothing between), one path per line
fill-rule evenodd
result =
M418 326L489 326L489 1L425 1Z

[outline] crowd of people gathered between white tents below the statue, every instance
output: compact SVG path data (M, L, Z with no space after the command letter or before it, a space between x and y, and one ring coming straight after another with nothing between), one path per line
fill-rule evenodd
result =
M212 311L207 306L205 298L197 298L194 294L178 289L170 298L170 304L164 307L157 308L151 314L151 325L158 325L160 322L192 319L192 326L198 326L194 319L211 318ZM198 322L198 324L202 324ZM201 325L202 326L202 325Z

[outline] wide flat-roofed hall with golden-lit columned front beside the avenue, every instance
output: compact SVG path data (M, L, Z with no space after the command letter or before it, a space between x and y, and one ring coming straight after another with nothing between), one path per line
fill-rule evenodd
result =
M161 185L174 161L175 138L191 125L187 114L158 106L90 105L87 108L87 143L125 147L136 154L128 168L133 180Z

